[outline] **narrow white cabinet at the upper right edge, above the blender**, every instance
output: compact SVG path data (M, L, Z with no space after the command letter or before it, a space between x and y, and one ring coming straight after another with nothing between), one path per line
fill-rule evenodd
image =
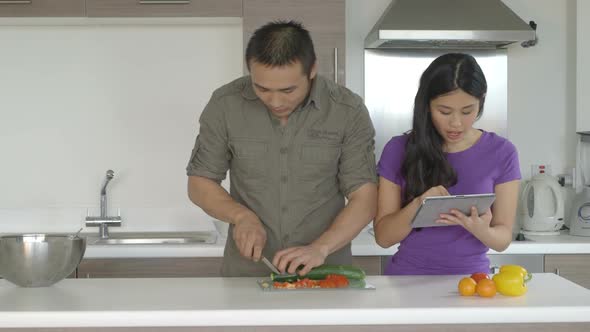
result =
M576 131L590 133L590 2L576 1Z

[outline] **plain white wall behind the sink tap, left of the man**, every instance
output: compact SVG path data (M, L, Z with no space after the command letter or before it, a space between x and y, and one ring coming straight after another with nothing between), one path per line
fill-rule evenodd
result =
M241 20L0 26L0 45L0 233L77 230L107 169L123 230L212 227L184 169L211 93L242 73Z

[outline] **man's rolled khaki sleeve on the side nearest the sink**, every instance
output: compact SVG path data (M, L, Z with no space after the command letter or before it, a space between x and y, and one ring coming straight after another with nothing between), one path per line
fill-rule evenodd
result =
M229 169L227 127L222 98L213 96L199 119L199 134L186 167L188 176L202 176L221 182Z

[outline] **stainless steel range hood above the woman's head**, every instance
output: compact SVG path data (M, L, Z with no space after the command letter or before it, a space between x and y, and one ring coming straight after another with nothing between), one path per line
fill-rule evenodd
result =
M501 0L393 0L365 48L528 47L536 44L534 27Z

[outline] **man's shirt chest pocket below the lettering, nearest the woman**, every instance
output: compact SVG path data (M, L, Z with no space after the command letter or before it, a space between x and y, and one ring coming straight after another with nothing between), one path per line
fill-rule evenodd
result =
M304 144L301 146L301 165L296 169L297 177L303 180L326 180L338 174L338 162L342 145Z

